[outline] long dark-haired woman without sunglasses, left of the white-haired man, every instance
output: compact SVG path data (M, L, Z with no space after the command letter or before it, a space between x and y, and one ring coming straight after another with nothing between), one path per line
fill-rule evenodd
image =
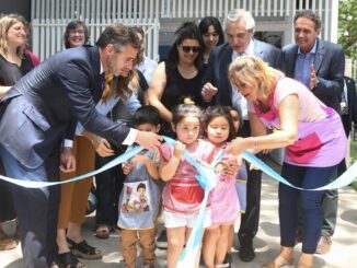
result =
M224 43L224 34L220 22L215 16L204 18L198 24L198 30L203 36L204 61L207 65L210 49Z

